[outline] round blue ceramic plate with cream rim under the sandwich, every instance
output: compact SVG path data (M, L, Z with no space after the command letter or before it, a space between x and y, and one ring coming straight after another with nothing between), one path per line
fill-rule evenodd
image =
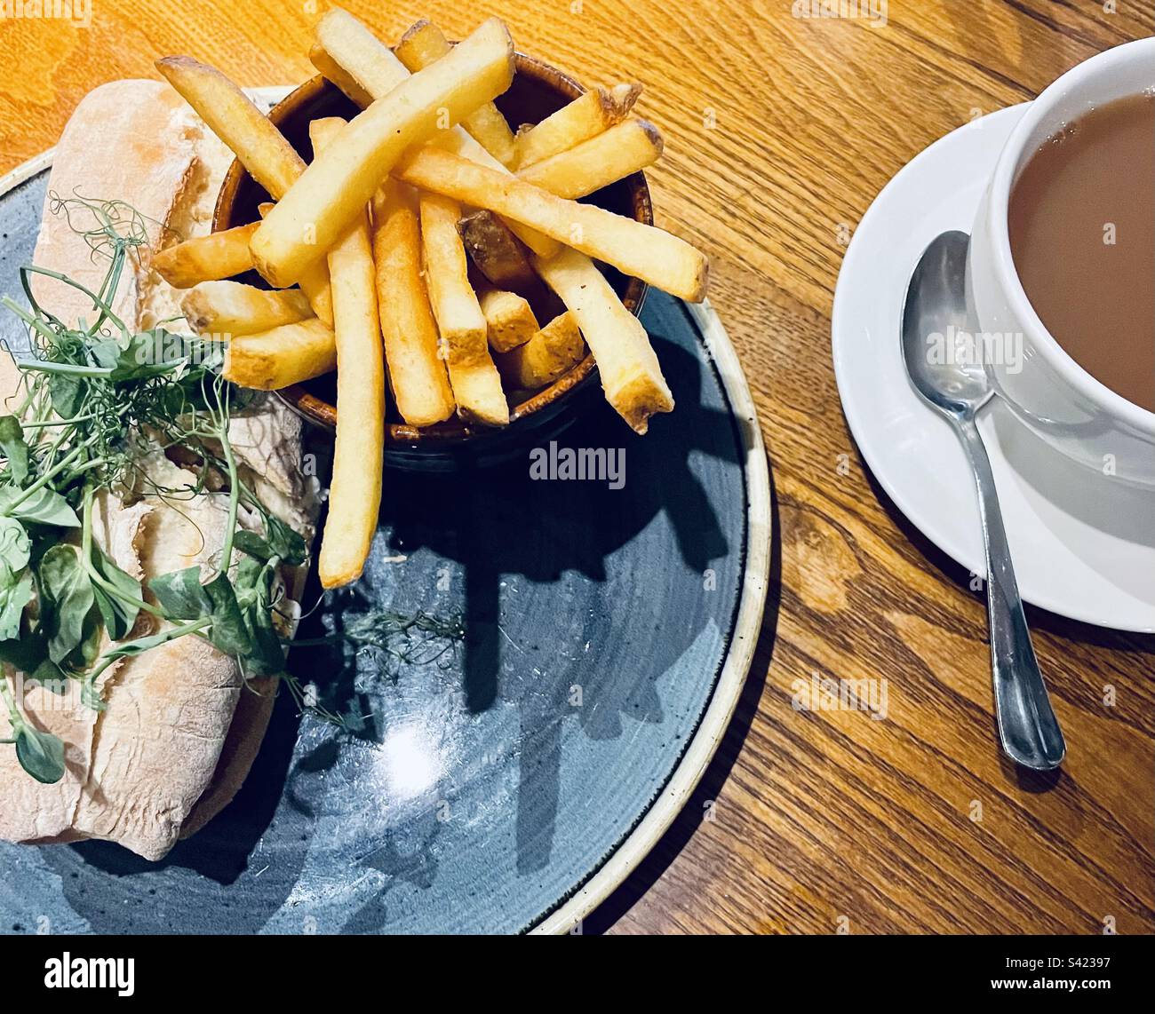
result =
M46 165L0 181L2 292L31 259ZM298 633L424 610L460 616L463 640L408 661L295 649L290 668L366 716L359 731L282 694L239 796L162 863L0 844L0 930L557 932L605 897L729 722L768 565L766 458L724 331L657 292L642 319L673 415L638 438L594 389L547 458L610 449L618 480L535 478L528 453L387 472L365 576ZM0 336L23 338L10 316Z

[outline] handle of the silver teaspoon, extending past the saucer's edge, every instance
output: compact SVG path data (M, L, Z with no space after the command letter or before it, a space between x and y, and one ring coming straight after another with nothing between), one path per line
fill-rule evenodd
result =
M1066 743L1030 643L1019 583L1011 564L1011 547L1003 528L994 474L983 438L973 418L961 419L959 428L975 469L986 543L986 613L999 738L1004 752L1016 763L1049 771L1063 763Z

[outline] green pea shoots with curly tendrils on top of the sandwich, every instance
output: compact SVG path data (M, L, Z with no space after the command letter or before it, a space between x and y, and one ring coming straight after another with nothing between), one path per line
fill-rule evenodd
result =
M99 678L117 659L182 636L204 638L234 656L246 676L278 673L280 567L303 564L307 549L239 474L229 423L246 394L219 375L219 349L163 326L134 333L113 311L128 259L148 241L139 213L82 197L53 197L52 210L68 217L109 269L91 291L29 266L21 270L28 308L0 300L31 340L30 355L16 363L21 392L9 402L16 410L0 416L0 661L42 686L77 681L81 700L96 710L105 707ZM32 292L37 274L82 292L92 322L72 327L49 312ZM158 484L143 464L157 450L195 480ZM178 507L193 497L223 497L224 544L204 566L152 577L146 597L94 538L102 491ZM243 506L262 519L262 535L238 528ZM29 775L59 781L64 744L28 722L8 672L0 674L7 741Z

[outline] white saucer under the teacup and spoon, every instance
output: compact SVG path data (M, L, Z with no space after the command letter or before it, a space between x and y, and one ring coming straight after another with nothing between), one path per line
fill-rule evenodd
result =
M918 258L947 229L970 232L1026 109L961 127L904 166L863 216L834 293L834 372L863 457L910 522L978 575L986 566L970 469L949 425L907 380L899 323ZM1155 494L1052 450L998 400L979 428L1023 598L1088 624L1155 632Z

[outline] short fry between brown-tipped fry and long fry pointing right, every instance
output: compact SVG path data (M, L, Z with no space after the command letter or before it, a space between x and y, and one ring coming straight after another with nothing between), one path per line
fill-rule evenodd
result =
M602 187L653 165L662 154L662 135L646 120L623 120L559 151L528 169L517 178L557 197L584 197Z

